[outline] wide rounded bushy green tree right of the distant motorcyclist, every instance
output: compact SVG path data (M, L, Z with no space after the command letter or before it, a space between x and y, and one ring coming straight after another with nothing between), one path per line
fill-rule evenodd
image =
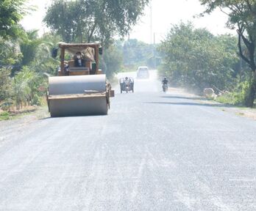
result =
M161 75L173 84L202 89L216 86L227 89L235 80L233 67L238 57L235 40L214 37L206 29L193 29L191 23L174 25L160 45L163 54Z

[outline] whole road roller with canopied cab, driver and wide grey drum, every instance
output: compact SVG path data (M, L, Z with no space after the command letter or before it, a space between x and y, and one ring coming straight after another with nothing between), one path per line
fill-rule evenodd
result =
M49 77L47 103L51 117L107 115L114 90L99 70L99 43L60 43L58 76ZM53 55L57 56L57 48ZM69 56L68 61L65 59Z

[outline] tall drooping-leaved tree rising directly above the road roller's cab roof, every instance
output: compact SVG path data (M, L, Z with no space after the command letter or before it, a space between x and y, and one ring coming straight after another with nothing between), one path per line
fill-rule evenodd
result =
M65 42L101 40L105 45L113 37L127 34L137 23L149 0L55 0L44 22Z

